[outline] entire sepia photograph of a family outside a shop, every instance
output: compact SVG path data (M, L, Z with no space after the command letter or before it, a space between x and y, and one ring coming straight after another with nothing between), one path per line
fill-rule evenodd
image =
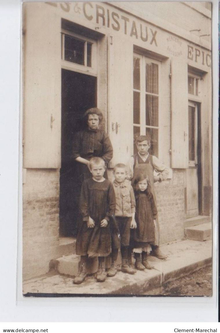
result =
M212 296L212 3L22 4L24 297Z

